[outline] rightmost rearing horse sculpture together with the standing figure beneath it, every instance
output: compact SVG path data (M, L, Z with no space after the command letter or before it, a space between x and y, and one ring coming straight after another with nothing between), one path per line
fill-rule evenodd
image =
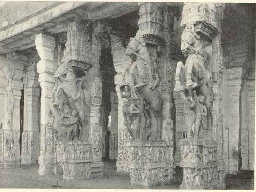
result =
M181 51L187 57L185 65L177 63L174 91L184 102L188 137L198 137L200 128L212 129L212 87L208 54L204 41L195 32L184 30Z

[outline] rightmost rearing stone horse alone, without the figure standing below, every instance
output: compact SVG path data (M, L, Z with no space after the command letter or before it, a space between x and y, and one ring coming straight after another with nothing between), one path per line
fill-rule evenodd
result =
M181 36L181 51L187 60L185 65L181 61L177 63L173 91L180 91L183 100L191 99L192 101L194 99L193 93L202 95L204 98L203 105L206 106L208 114L206 129L211 129L211 76L208 55L203 51L203 41L200 36L195 32L184 30ZM186 90L189 91L189 97L185 96Z

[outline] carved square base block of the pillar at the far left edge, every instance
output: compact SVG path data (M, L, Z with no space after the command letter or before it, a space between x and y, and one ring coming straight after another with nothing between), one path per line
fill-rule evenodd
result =
M20 165L19 130L0 129L0 169Z

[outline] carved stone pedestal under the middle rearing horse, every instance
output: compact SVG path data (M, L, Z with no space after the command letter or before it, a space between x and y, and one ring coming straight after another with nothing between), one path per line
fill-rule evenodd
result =
M126 147L132 188L151 188L164 183L164 142L129 141Z

